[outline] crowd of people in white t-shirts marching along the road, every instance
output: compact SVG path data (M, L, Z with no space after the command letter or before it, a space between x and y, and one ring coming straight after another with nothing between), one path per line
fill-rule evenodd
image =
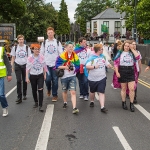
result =
M0 48L0 102L3 116L8 115L8 103L4 91L4 77L11 81L12 71L17 81L16 104L27 99L27 83L31 83L34 108L43 112L44 81L47 96L52 101L58 100L58 79L62 87L63 108L67 108L67 92L71 94L72 113L79 113L76 98L76 77L79 84L80 99L88 101L94 107L95 93L98 93L100 110L107 113L105 107L105 88L107 68L114 69L112 86L121 88L122 108L127 110L126 98L130 99L130 110L134 112L133 103L137 103L137 81L141 72L141 55L136 50L135 41L116 41L109 47L106 44L87 46L86 39L80 37L78 44L68 41L64 44L54 38L55 31L47 28L48 38L40 45L33 43L28 47L24 44L24 36L18 35L18 44L11 50L11 63L3 47ZM111 65L114 62L114 67ZM147 71L150 68L146 68ZM58 75L61 71L61 76ZM56 73L57 72L57 73Z

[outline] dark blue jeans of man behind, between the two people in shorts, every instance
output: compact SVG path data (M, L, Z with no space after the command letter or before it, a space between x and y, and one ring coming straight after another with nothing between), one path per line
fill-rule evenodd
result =
M77 73L77 78L79 81L80 95L89 96L89 86L88 79L84 73Z

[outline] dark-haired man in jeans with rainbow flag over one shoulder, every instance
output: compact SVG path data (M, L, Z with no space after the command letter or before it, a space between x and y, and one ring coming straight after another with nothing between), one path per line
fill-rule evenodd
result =
M80 89L80 99L88 101L89 96L89 88L88 88L88 79L85 76L83 69L85 67L85 63L91 54L91 50L86 48L86 39L84 37L79 38L79 44L75 46L75 53L78 55L80 60L80 72L77 73L77 78L79 81L79 89Z

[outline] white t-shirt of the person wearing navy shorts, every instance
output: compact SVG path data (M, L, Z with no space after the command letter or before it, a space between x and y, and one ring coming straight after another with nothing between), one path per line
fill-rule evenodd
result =
M98 57L91 62L88 62L86 66L96 66L100 65L97 69L89 70L88 80L90 81L100 81L106 77L105 66L108 66L110 63L104 57Z

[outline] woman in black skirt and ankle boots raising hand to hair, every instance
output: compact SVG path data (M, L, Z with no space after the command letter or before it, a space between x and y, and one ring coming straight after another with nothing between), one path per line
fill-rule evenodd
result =
M136 61L138 61L139 59L140 55L133 48L133 45L130 41L124 42L122 50L118 51L114 58L114 68L118 81L116 80L113 85L115 88L121 88L122 108L125 110L128 109L125 100L128 87L131 112L135 111L133 105L135 95L134 90L136 88L138 79ZM116 82L119 82L120 84Z

